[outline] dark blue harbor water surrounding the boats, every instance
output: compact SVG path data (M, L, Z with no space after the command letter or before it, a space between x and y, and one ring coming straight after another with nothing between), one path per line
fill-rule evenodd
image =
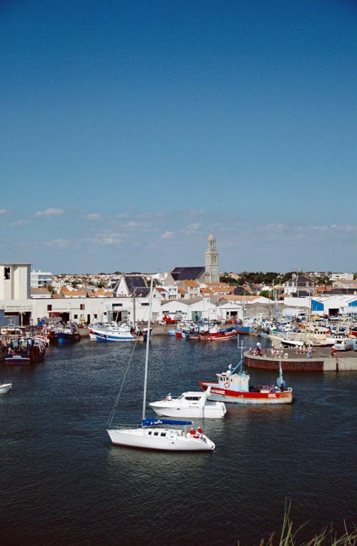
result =
M2 545L256 545L281 529L286 500L306 524L301 540L357 523L356 372L289 373L293 404L228 406L204 423L214 452L146 452L106 433L132 349L82 340L41 364L0 364L0 381L13 382L0 395ZM114 424L141 419L144 352L138 342ZM238 359L234 341L156 336L148 402L198 389Z

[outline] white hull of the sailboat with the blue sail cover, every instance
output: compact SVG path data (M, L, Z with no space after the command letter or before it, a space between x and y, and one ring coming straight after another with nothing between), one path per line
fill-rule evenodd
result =
M128 428L107 431L111 442L126 447L164 451L213 451L215 445L205 435L160 428Z

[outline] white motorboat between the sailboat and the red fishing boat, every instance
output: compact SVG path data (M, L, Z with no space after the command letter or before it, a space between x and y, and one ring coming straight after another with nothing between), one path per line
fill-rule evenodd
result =
M179 397L171 397L171 394L157 402L151 402L150 407L157 415L165 417L189 417L190 419L220 419L226 415L226 406L223 402L208 400L206 392L183 392Z

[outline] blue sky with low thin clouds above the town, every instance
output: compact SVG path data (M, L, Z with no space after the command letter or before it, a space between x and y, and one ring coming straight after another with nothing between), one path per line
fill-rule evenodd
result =
M0 255L356 265L351 0L2 1Z

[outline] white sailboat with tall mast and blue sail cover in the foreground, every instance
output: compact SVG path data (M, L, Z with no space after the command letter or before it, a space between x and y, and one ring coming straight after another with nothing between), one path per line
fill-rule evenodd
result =
M148 335L146 339L145 356L145 374L144 374L144 396L143 396L143 415L141 425L139 426L119 426L107 430L111 442L114 445L126 447L140 447L146 450L165 450L165 451L213 451L214 443L203 434L201 427L196 430L191 427L187 430L190 421L169 421L158 418L146 418L146 386L149 364L149 338L151 322L151 304L153 292L153 279L150 284L150 303L148 319ZM181 428L163 428L155 425L181 425ZM182 428L184 425L184 428Z

